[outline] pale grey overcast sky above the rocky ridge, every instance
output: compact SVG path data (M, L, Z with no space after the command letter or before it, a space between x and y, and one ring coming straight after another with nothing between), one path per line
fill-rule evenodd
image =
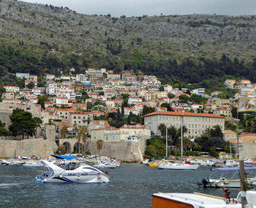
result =
M88 15L139 17L142 15L256 15L256 0L24 0L31 3L67 6Z

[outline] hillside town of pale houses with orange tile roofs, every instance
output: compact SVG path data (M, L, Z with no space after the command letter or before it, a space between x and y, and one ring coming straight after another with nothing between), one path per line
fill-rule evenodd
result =
M219 96L223 92L218 90L209 95L205 88L173 88L170 84L162 85L156 76L135 74L132 70L113 74L105 68L88 68L85 74L60 77L46 74L43 87L38 87L36 75L16 73L16 77L24 80L24 88L3 86L0 120L4 128L8 129L12 123L13 109L21 108L42 120L36 137L44 136L47 124L55 126L52 140L53 143L56 140L57 146L53 151L60 145L65 145L65 152L70 153L79 152L83 147L86 150L85 143L77 143L79 128L86 127L87 142L102 140L105 146L113 142L140 143L139 156L134 157L138 160L143 159L145 141L151 134L161 135L160 124L179 129L183 122L187 129L184 136L192 142L218 125L225 141L237 143L236 132L225 130L225 124L236 124L236 112L232 109L237 108L239 98L255 99L256 96L256 84L250 80L227 79L225 87L237 93L225 99ZM67 130L63 133L61 129ZM28 138L31 136L27 134L25 139ZM1 140L21 139L20 135L1 136ZM241 140L255 143L256 134L242 132ZM113 145L108 146L111 147Z

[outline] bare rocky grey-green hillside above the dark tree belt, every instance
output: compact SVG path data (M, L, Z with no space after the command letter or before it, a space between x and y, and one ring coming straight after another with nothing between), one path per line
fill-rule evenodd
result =
M256 16L170 15L107 17L68 8L1 0L1 45L46 49L65 55L76 52L124 60L134 52L155 58L225 53L252 61L256 54Z

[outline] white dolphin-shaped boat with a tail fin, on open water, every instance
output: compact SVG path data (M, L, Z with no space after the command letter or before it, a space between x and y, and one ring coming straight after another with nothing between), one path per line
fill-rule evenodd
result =
M38 182L109 182L109 176L89 165L65 170L48 161L41 161L45 171L36 176Z

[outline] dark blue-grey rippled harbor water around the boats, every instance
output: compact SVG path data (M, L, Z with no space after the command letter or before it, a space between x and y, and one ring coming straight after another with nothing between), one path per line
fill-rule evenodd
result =
M209 177L207 167L159 170L144 164L121 164L108 169L110 182L102 184L42 184L35 180L40 169L0 166L0 207L151 207L152 193L157 192L224 196L222 189L196 186L197 181ZM230 191L230 196L236 197L239 190Z

